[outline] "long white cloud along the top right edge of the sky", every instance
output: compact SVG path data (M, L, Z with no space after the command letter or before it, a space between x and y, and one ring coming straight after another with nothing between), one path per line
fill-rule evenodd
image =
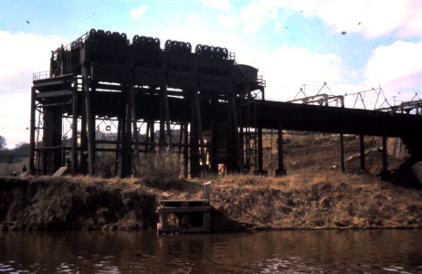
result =
M244 29L252 32L267 20L278 18L280 8L283 13L293 10L307 17L317 16L336 32L357 32L369 38L422 35L422 1L414 0L251 1L241 9Z

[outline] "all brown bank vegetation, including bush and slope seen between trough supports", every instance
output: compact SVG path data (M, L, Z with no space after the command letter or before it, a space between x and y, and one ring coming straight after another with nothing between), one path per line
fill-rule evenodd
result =
M359 139L351 136L345 142L346 174L339 170L337 137L290 136L287 176L207 178L212 180L215 228L238 228L234 223L274 229L422 228L422 188L406 159L390 154L392 179L383 182L378 176L381 152L373 139L366 140L366 171L359 170ZM264 167L274 170L277 151L269 147L267 135ZM124 180L0 177L0 230L155 228L159 199L202 194L203 181L178 178L177 161L157 154L141 166L143 178Z

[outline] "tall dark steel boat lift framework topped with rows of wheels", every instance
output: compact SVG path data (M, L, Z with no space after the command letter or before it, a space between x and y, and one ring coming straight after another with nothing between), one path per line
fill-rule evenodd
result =
M264 99L257 69L227 49L90 30L52 51L32 87L33 174L139 175L140 154L177 151L184 175L248 164L238 104ZM249 142L248 142L249 144ZM255 149L255 148L254 148ZM255 152L253 152L255 153ZM258 168L255 165L255 168Z

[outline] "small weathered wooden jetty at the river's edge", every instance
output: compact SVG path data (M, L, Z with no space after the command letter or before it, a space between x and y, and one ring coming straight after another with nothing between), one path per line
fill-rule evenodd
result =
M211 231L210 183L203 184L203 199L160 200L159 233L198 233Z

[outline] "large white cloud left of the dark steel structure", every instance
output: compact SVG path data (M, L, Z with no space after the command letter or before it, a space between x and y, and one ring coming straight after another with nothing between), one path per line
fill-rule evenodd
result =
M8 147L29 142L32 73L49 70L59 37L0 31L0 135Z

